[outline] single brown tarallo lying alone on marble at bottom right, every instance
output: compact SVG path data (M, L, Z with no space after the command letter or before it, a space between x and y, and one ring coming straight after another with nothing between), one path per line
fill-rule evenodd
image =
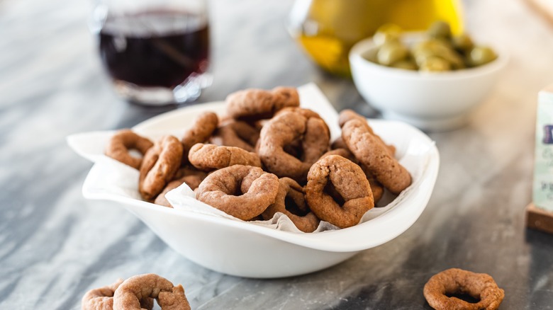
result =
M505 297L490 275L451 268L430 277L424 287L426 301L434 309L495 310ZM469 294L479 302L469 303L447 294Z

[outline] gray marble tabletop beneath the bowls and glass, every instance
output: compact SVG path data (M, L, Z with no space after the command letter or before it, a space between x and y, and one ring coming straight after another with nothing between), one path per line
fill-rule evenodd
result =
M430 134L441 154L428 207L406 233L328 270L277 280L231 277L168 248L132 214L88 201L91 163L68 134L130 127L169 108L113 95L86 1L0 0L0 309L80 309L88 289L155 272L193 309L430 309L423 285L465 268L505 289L501 309L553 309L553 236L525 229L537 91L553 82L553 28L522 0L465 1L467 28L510 63L466 127ZM351 81L324 74L284 29L291 1L213 0L213 86L314 81L341 109L370 115Z

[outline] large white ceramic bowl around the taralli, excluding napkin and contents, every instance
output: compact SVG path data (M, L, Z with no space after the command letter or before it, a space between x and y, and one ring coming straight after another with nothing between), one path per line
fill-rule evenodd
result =
M178 132L205 110L225 109L223 103L182 108L153 117L133 130L141 134ZM404 166L415 167L413 185L394 200L393 206L382 211L374 208L380 212L374 219L347 229L313 234L184 212L123 195L125 190L136 188L137 180L129 180L129 187L120 193L105 190L101 186L104 176L99 175L99 165L112 132L77 134L68 137L68 143L78 154L96 161L83 185L86 198L118 202L175 251L206 268L242 277L287 277L328 268L359 251L390 241L406 231L425 209L440 161L434 143L420 130L402 122L371 120L370 123L386 142L396 145L396 154ZM135 196L140 197L138 192Z

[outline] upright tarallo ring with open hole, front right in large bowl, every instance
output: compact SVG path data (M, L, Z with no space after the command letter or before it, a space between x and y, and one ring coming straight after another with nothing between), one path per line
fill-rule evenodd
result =
M338 202L328 193L333 190L340 195ZM306 199L319 219L340 228L356 225L374 207L369 181L361 167L339 155L313 164L307 176Z

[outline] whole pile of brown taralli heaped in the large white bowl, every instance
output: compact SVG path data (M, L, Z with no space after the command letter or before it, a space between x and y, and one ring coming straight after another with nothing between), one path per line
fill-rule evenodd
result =
M146 201L172 207L164 195L186 183L197 200L233 217L270 220L279 212L303 232L321 220L338 228L359 224L384 188L397 195L411 183L396 148L352 110L340 113L342 137L331 143L323 118L299 107L296 88L238 91L226 105L227 116L203 113L180 139L152 143L117 132L106 155L139 169Z

